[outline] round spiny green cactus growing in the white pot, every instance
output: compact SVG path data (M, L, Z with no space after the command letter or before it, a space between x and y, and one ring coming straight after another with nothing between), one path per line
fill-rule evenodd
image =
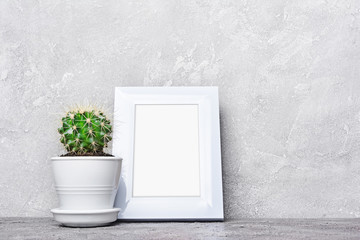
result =
M111 128L110 120L101 111L79 109L69 111L62 118L58 131L68 154L101 155L112 139Z

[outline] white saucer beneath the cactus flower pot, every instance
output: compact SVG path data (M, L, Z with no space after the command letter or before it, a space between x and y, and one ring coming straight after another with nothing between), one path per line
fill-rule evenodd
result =
M68 227L98 227L109 225L117 220L120 208L100 210L62 210L51 209L55 221Z

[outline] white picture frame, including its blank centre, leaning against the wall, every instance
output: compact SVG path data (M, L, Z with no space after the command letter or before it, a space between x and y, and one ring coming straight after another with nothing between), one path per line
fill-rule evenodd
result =
M224 219L217 87L116 87L112 148L119 219Z

